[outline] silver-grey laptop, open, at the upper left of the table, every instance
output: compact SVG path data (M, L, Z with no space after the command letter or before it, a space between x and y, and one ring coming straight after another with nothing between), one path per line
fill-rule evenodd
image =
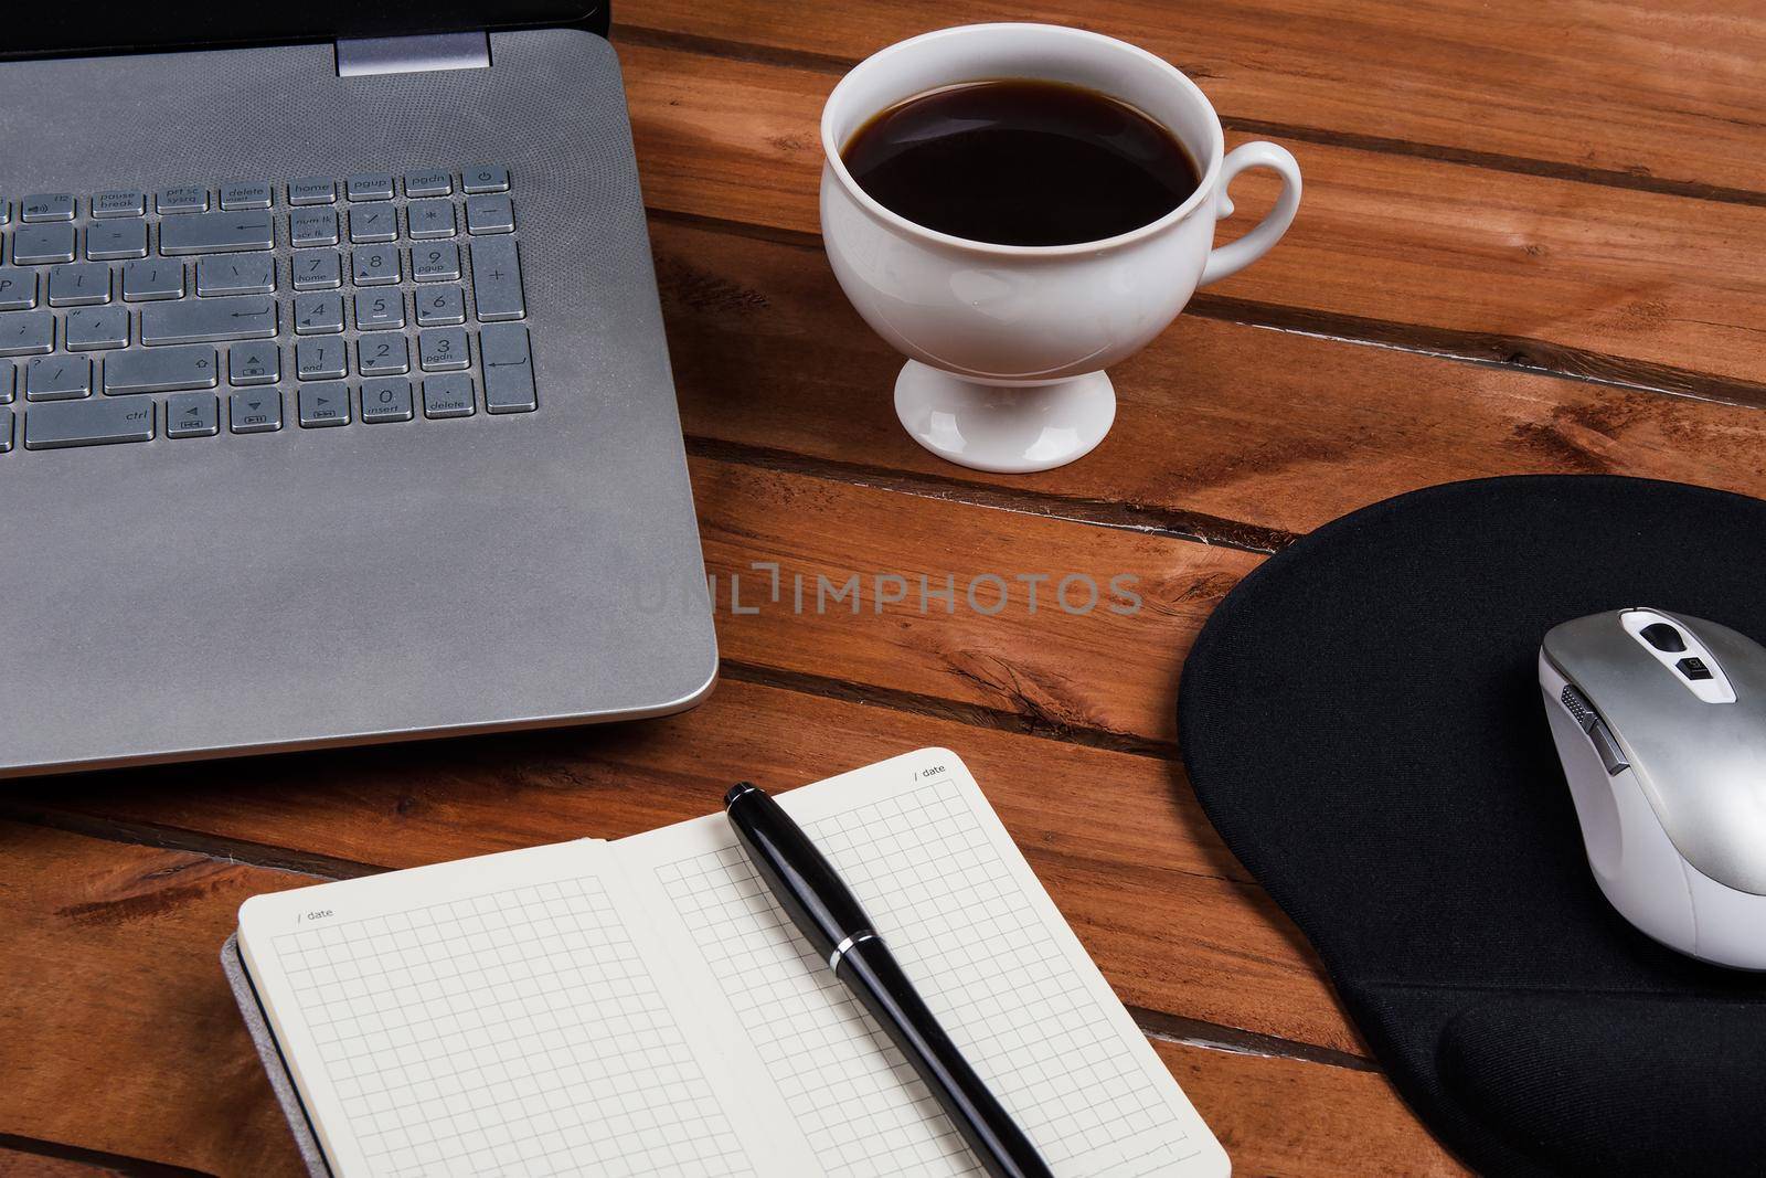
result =
M0 777L648 717L717 645L606 9L0 53Z

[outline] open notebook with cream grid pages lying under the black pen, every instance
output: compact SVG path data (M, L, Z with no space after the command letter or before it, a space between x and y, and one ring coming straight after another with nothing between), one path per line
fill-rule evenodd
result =
M955 754L775 797L1056 1174L1229 1171ZM254 895L237 941L343 1178L982 1174L722 814Z

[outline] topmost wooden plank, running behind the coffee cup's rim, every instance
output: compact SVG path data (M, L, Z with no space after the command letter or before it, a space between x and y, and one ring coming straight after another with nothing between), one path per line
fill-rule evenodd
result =
M1722 200L1766 191L1766 18L1741 5L638 0L620 5L615 37L666 30L846 69L894 41L991 19L1132 41L1189 72L1234 124Z

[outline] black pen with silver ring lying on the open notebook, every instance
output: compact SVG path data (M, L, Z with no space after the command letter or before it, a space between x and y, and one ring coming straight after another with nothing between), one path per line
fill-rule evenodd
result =
M736 839L774 899L809 938L834 977L858 996L938 1097L957 1132L994 1178L1053 1178L1024 1130L950 1042L902 973L871 917L804 828L766 791L740 782L724 795Z

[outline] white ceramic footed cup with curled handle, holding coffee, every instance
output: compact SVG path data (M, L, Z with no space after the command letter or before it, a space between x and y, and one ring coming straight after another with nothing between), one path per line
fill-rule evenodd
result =
M1040 78L1098 90L1167 127L1201 185L1158 221L1077 245L992 245L938 233L871 200L841 161L865 122L962 81ZM978 470L1030 472L1088 454L1116 419L1104 367L1139 351L1196 288L1234 274L1287 231L1300 166L1275 143L1226 154L1220 117L1176 67L1113 37L1058 25L943 28L865 58L821 113L821 235L858 314L909 360L895 413L925 449ZM1229 245L1227 184L1282 177L1275 208Z

